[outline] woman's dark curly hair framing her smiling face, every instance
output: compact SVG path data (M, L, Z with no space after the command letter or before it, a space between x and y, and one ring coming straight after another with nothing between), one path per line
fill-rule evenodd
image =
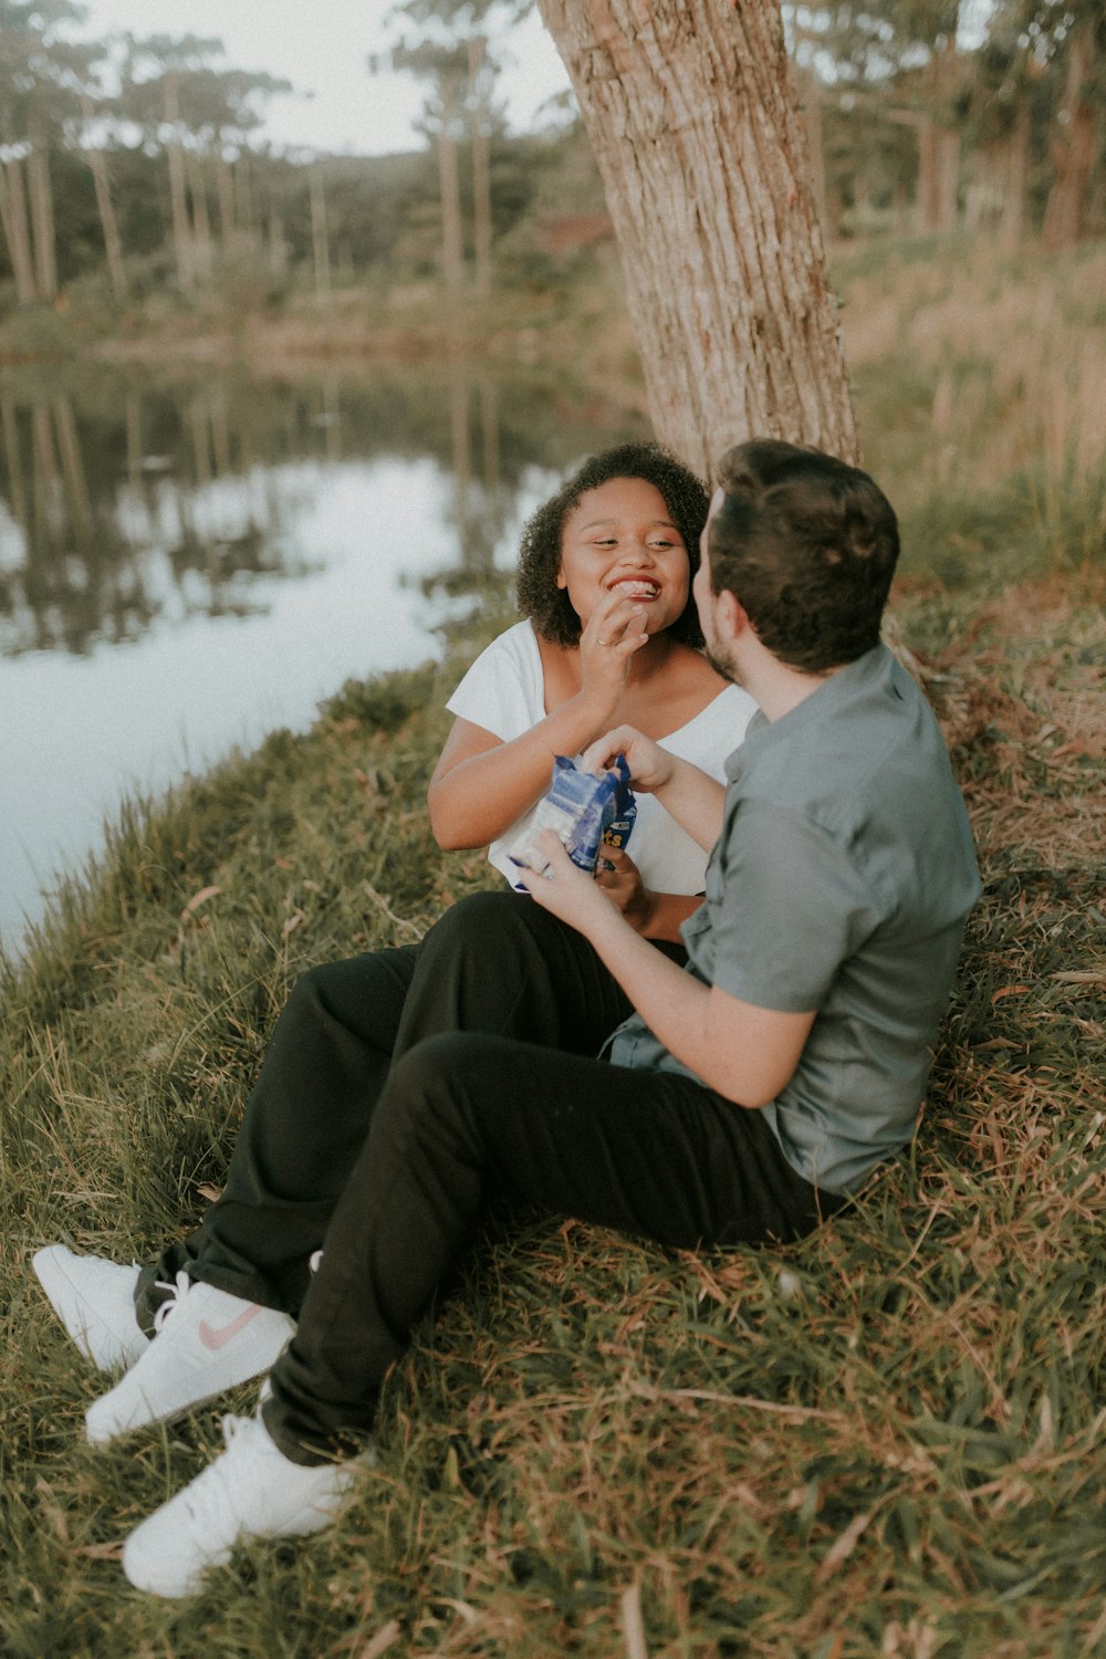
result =
M555 496L527 519L519 551L517 601L519 611L552 645L575 645L580 637L580 619L572 609L567 592L557 587L560 571L560 538L564 524L580 496L597 489L612 478L643 478L663 496L672 523L680 531L688 551L688 602L668 629L672 639L685 645L701 645L698 614L691 599L691 577L700 562L700 534L706 523L710 496L705 486L688 471L683 461L658 443L620 443L612 450L592 455L567 478Z

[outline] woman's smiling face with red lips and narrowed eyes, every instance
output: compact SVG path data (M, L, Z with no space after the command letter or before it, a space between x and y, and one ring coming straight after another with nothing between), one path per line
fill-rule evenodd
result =
M618 592L660 634L688 601L690 564L665 498L643 478L612 478L585 489L564 521L557 587L587 625L595 606Z

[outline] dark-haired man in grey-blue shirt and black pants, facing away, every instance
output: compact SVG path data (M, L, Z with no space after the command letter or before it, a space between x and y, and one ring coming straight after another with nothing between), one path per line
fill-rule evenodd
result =
M600 1058L461 1032L395 1063L260 1415L229 1418L227 1452L131 1535L134 1584L187 1594L235 1540L333 1518L489 1198L670 1246L764 1243L811 1231L910 1140L980 888L934 715L879 644L897 552L866 473L774 441L723 456L695 597L713 662L761 710L730 785L630 728L585 757L623 752L713 846L686 969L547 838L527 889L637 1014Z

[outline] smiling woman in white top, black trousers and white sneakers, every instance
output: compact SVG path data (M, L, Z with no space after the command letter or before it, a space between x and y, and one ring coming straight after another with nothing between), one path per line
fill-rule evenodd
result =
M706 508L673 456L622 445L534 514L519 562L524 620L488 647L448 705L456 718L428 796L441 846L488 844L512 879L507 848L549 786L552 757L618 723L723 776L753 702L696 649L691 576ZM703 889L705 854L650 796L630 844L633 858L612 849L595 879L682 959L678 926ZM594 1055L627 1014L590 944L514 891L463 899L416 946L303 974L202 1226L141 1271L63 1246L35 1258L78 1345L104 1370L131 1365L90 1407L90 1440L166 1420L270 1369L390 1067L416 1042L476 1030Z

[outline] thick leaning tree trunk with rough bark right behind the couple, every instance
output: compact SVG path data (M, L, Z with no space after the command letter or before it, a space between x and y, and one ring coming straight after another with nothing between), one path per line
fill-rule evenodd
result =
M776 3L539 0L604 178L653 426L857 451Z

